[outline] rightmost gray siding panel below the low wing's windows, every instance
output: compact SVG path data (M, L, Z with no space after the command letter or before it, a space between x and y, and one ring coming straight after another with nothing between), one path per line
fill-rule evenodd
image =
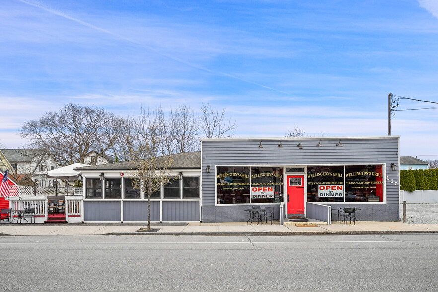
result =
M199 221L199 201L163 201L163 221Z

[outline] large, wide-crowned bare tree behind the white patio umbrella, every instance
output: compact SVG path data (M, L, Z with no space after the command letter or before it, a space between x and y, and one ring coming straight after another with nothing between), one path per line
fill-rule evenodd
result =
M83 163L91 150L97 153L93 163L112 149L121 121L104 109L70 103L27 121L20 133L29 140L28 147L43 150L59 165Z

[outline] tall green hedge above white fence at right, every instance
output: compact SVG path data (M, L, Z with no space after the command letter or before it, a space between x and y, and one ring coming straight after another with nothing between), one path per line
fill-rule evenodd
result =
M400 170L400 190L437 190L438 169Z

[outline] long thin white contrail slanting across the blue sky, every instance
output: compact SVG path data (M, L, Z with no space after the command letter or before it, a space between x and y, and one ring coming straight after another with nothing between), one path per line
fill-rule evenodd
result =
M257 85L257 86L259 86L259 87L263 87L263 88L266 88L266 89L269 89L269 90L273 90L273 91L277 91L277 92L280 92L280 93L284 93L284 94L289 95L289 93L287 93L287 92L285 92L285 91L281 91L281 90L278 90L278 89L275 89L275 88L272 88L272 87L268 87L268 86L265 86L265 85L263 85L263 84L256 83L256 82L253 82L253 81L245 80L245 79L239 78L239 77L237 77L237 76L234 76L234 75L231 75L231 74L228 74L228 73L223 73L223 72L219 72L219 71L211 70L211 69L208 69L208 68L204 68L204 67L198 66L198 65L196 65L196 64L192 64L192 63L190 63L190 62L187 62L187 61L181 60L181 59L179 59L179 58L176 58L176 57L173 57L173 56L170 56L170 55L167 55L167 54L161 53L160 51L158 51L158 50L156 50L156 49L154 49L154 48L152 48L152 47L150 47L150 46L148 46L148 45L145 45L145 44L143 44L143 43L140 43L140 42L138 42L138 41L136 41L136 40L133 40L133 39L131 39L131 38L127 38L127 37L124 37L124 36L122 36L122 35L116 34L116 33L112 32L112 31L106 30L106 29L104 29L104 28L101 28L101 27L98 27L98 26L92 25L92 24L90 24L90 23L88 23L88 22L85 22L85 21L82 21L82 20L80 20L80 19L74 18L74 17L72 17L72 16L69 16L69 15L64 14L64 13L62 13L62 12L59 12L59 11L56 11L56 10L54 10L54 9L50 9L50 8L44 7L44 6L42 6L41 3L39 3L39 2L29 2L29 1L26 1L26 0L15 0L15 1L18 1L18 2L21 2L21 3L27 4L27 5L29 5L29 6L33 6L33 7L36 7L36 8L42 9L42 10L47 11L47 12L49 12L49 13L52 13L52 14L55 14L55 15L61 16L61 17L63 17L63 18L66 18L66 19L72 20L72 21L74 21L74 22L77 22L77 23L79 23L79 24L82 24L82 25L84 25L84 26L86 26L86 27L89 27L89 28L91 28L91 29L94 29L94 30L97 30L97 31L100 31L100 32L103 32L103 33L106 33L106 34L109 34L109 35L112 35L112 36L114 36L114 37L116 37L116 38L119 38L119 39L125 40L125 41L127 41L127 42L130 42L130 43L133 43L133 44L136 44L136 45L142 46L142 47L145 47L145 48L147 48L147 49L149 49L149 50L151 50L151 51L157 53L158 55L161 55L161 56L163 56L163 57L166 57L166 58L172 59L172 60L174 60L174 61L176 61L176 62L182 63L182 64L187 65L187 66L189 66L189 67L196 68L196 69L198 69L198 70L202 70L202 71L205 71L205 72L213 73L213 74L215 74L215 75L222 75L222 76L230 77L230 78L233 78L233 79L236 79L236 80L239 80L239 81L243 81L243 82L246 82L246 83L254 84L254 85Z

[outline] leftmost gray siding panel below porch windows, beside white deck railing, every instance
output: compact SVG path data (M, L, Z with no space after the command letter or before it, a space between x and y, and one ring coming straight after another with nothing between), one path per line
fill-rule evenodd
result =
M121 221L120 202L83 202L84 217L86 221Z

